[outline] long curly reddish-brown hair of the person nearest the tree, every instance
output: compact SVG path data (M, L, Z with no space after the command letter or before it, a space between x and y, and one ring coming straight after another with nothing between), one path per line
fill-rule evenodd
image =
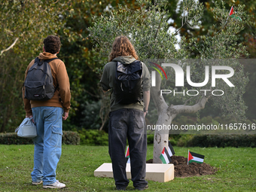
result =
M109 61L113 60L117 56L133 56L135 59L139 59L133 44L126 36L118 36L114 39L111 53L109 54Z

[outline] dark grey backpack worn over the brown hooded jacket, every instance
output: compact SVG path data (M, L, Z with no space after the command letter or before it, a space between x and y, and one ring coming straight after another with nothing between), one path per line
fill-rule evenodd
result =
M35 63L29 69L24 82L25 99L45 101L53 97L57 87L53 86L53 75L48 62L54 59L59 58L47 60L35 58Z

